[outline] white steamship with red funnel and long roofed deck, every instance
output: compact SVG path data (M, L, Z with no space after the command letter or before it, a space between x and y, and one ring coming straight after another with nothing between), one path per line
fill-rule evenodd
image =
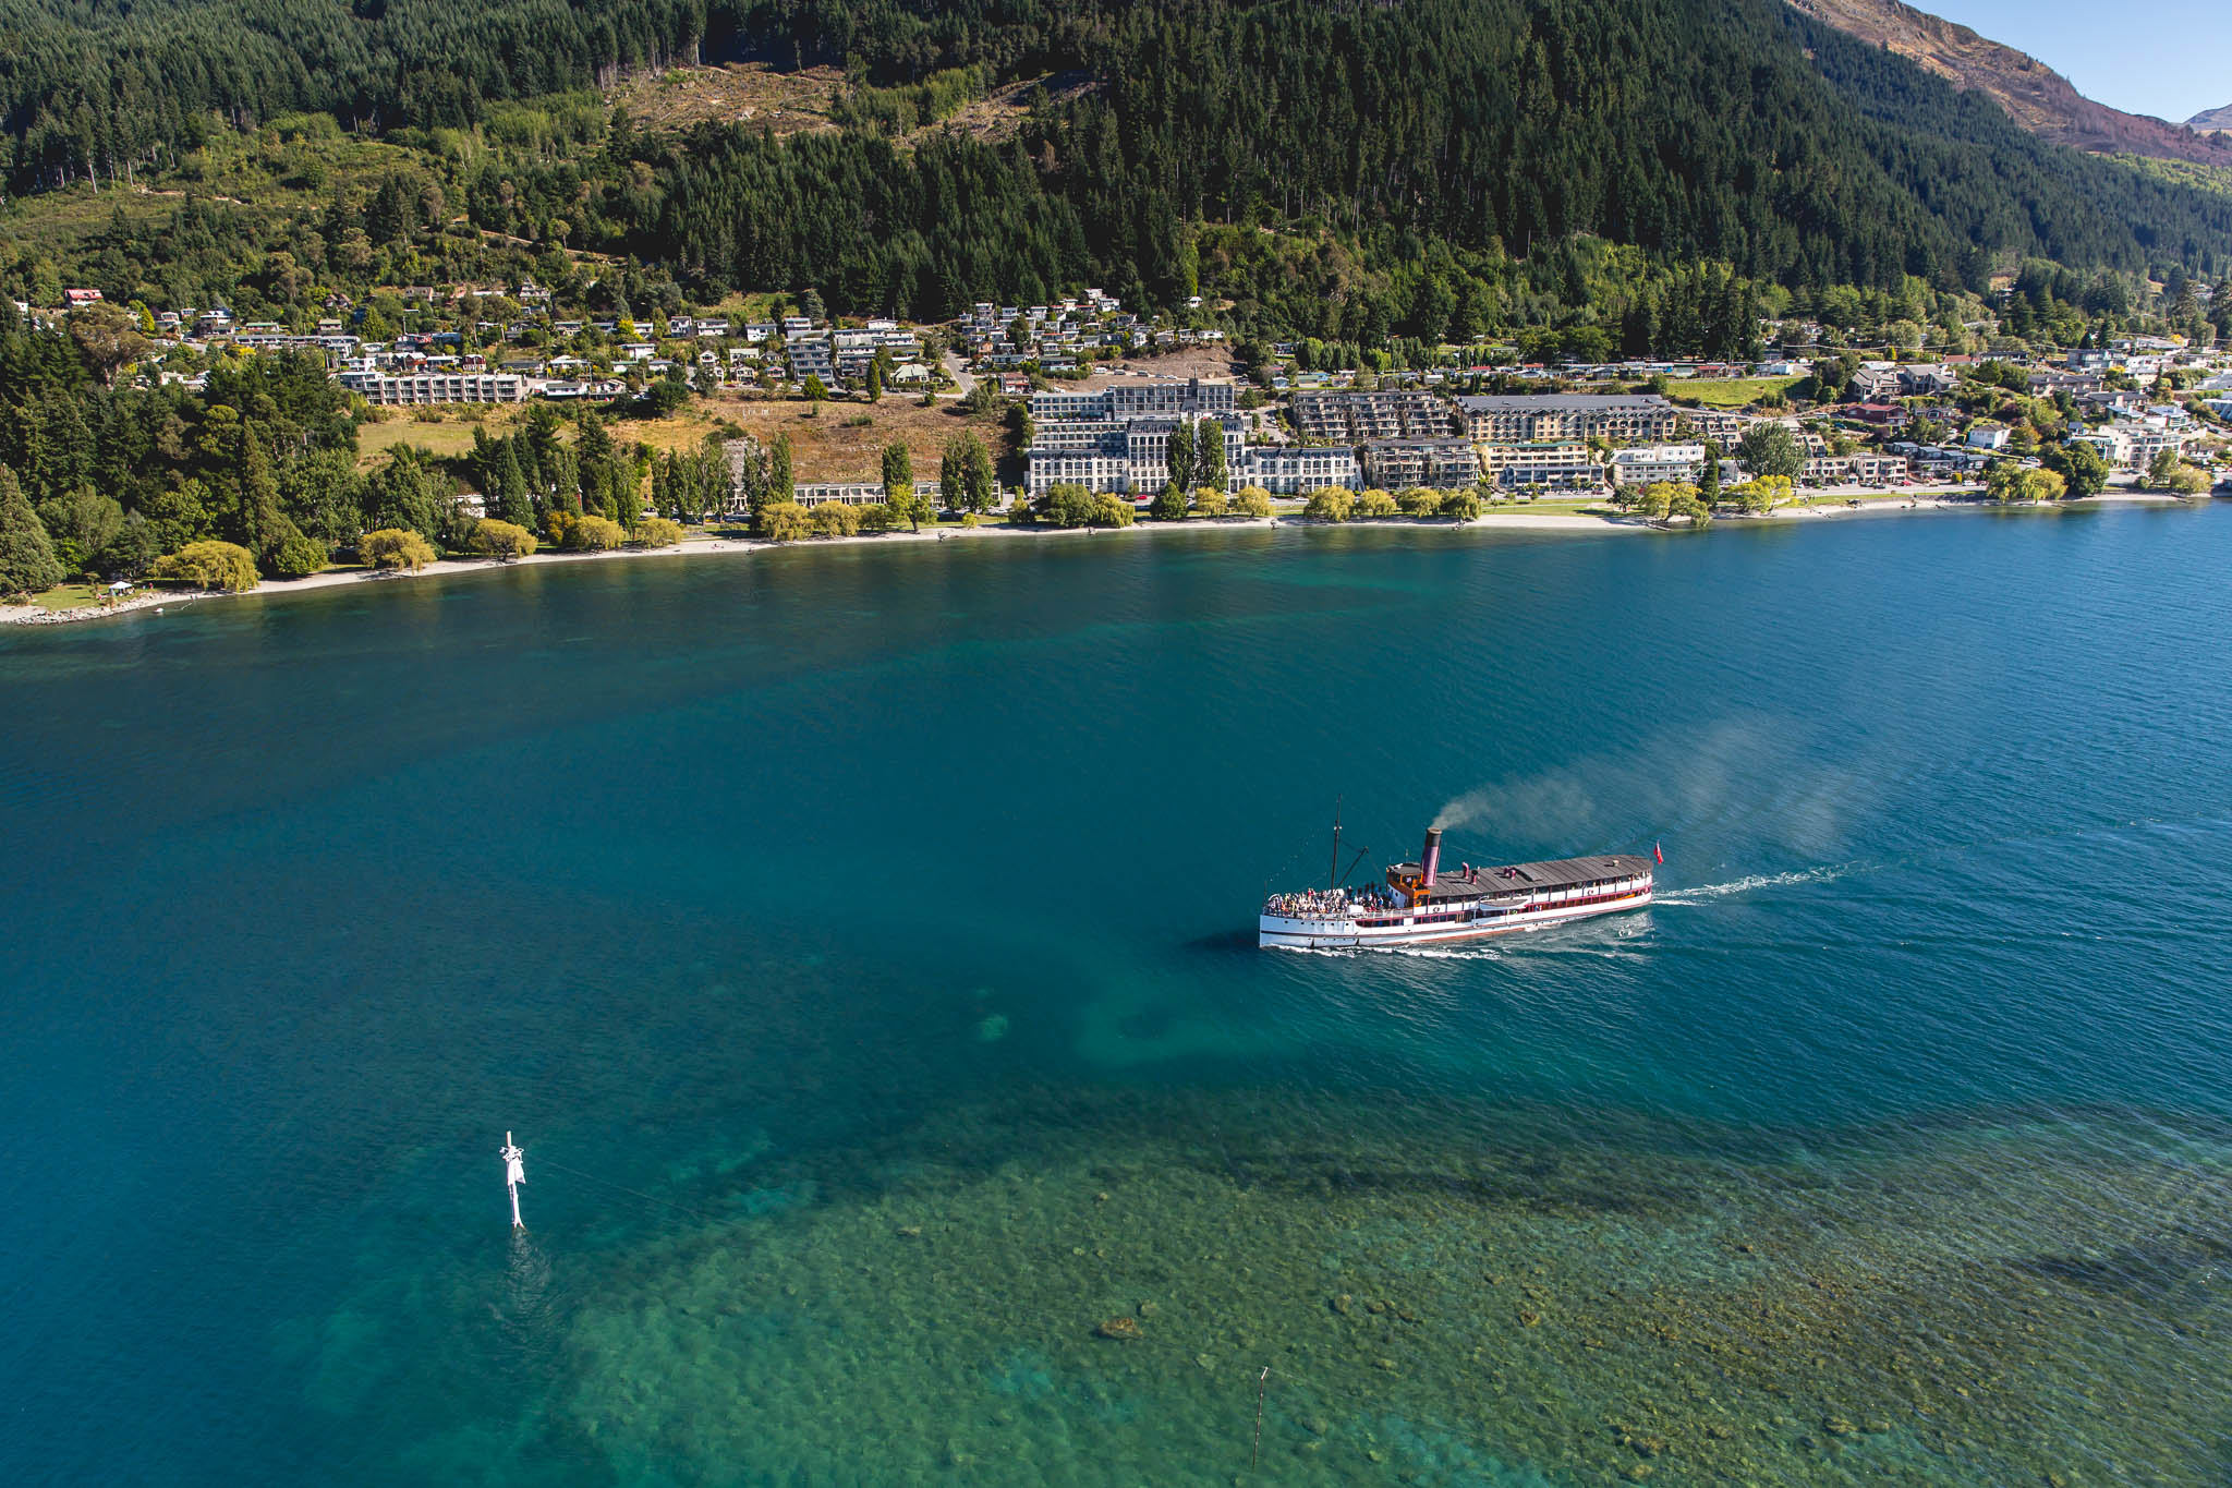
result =
M1339 828L1335 828L1339 843ZM1335 846L1339 866L1339 846ZM1292 950L1373 950L1446 946L1487 935L1641 910L1652 901L1652 859L1567 857L1551 863L1442 868L1442 830L1426 830L1415 863L1395 863L1386 883L1272 895L1257 921L1257 946Z

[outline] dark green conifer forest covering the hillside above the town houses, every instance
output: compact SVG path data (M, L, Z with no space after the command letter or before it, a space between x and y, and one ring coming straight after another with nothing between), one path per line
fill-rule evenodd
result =
M1884 290L1975 290L2022 257L2232 263L2225 196L2045 145L1774 0L0 0L0 18L16 190L114 178L277 109L469 132L491 100L665 58L841 62L862 96L955 67L1096 80L1007 143L623 129L489 163L471 192L484 228L556 223L696 290L812 283L841 310L933 317L1087 279L1170 303L1214 252L1259 294L1324 254L1440 261L1417 292L1457 315L1493 265L1578 236Z

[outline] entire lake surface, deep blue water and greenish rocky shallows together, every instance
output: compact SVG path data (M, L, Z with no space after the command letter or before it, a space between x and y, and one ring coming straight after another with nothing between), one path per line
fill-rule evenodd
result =
M1221 533L4 636L0 1477L2223 1481L2225 573ZM1335 794L1665 901L1261 955Z

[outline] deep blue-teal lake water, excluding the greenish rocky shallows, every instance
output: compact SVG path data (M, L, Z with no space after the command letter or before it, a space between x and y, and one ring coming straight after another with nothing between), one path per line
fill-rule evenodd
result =
M2228 576L2221 506L1248 531L0 634L0 1481L877 1481L612 1446L580 1318L676 1236L1054 1151L1045 1091L2212 1142ZM1460 799L1451 859L1658 841L1665 899L1257 953L1335 796L1379 861Z

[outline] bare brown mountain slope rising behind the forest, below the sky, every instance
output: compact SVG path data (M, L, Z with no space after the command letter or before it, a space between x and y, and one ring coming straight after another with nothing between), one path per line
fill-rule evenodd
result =
M1899 0L1790 0L1790 4L1848 36L1928 67L1955 87L1982 91L2018 125L2058 145L2096 154L2232 165L2232 134L2196 134L2185 125L2094 103L2038 58ZM2232 118L2221 118L2228 114L2232 109L2214 109L2201 118L2219 118L2216 125L2203 125L2199 118L2194 125L2232 129Z

